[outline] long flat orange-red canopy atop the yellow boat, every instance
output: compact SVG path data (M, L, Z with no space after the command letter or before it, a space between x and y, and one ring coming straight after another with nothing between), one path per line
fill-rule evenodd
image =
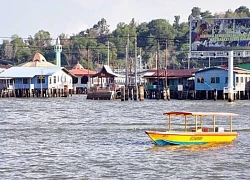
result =
M188 111L172 111L163 113L165 116L238 116L235 113L221 112L188 112Z

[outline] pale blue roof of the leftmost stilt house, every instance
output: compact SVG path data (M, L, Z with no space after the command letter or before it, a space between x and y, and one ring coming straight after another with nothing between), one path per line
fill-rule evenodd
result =
M61 67L11 67L0 73L0 78L32 78L37 75L50 76Z

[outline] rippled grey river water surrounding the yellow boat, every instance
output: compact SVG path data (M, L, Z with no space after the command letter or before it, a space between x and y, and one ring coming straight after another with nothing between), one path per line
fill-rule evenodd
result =
M0 179L250 179L250 101L0 99ZM156 147L166 111L233 112L233 143Z

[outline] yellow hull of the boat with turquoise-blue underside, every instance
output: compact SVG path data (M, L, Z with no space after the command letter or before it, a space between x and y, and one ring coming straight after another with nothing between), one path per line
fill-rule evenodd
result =
M146 131L156 145L200 145L233 141L237 132L163 132Z

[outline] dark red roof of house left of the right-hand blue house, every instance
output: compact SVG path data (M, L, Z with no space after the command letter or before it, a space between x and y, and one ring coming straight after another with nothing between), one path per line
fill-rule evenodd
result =
M157 70L151 69L147 73L144 74L144 77L192 77L193 74L198 71L199 69L167 69L165 70ZM167 72L167 74L166 74Z

